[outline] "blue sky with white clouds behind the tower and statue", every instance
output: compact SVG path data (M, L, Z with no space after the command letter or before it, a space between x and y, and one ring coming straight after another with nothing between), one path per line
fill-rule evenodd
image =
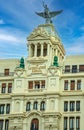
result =
M84 54L84 1L45 0L51 11L63 9L53 19L66 54ZM27 57L27 36L45 20L42 0L0 0L0 59Z

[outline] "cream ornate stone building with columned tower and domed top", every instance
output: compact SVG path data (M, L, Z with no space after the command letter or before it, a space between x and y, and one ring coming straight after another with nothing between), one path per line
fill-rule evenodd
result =
M65 56L51 23L27 41L26 59L0 60L0 130L83 130L84 55Z

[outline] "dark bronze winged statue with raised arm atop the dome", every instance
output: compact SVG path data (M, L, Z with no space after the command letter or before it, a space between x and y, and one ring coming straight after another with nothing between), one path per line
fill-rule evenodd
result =
M46 24L52 23L51 18L55 17L56 15L60 14L63 11L63 10L59 10L59 11L50 12L48 6L44 4L44 2L43 2L43 7L44 7L44 12L40 12L40 13L36 12L36 14L45 18Z

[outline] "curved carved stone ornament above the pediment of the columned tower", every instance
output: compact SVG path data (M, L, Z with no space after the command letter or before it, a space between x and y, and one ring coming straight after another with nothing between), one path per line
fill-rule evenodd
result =
M38 27L36 29L34 29L34 31L30 34L30 36L27 38L28 40L35 38L36 36L41 36L41 37L49 37L47 31L42 28L42 27Z

